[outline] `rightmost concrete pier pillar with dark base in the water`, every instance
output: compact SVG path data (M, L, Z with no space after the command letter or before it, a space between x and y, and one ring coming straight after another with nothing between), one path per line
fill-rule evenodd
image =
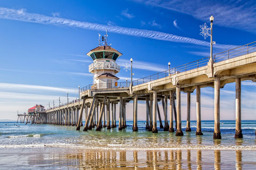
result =
M235 138L243 138L241 128L241 78L236 78L236 134Z

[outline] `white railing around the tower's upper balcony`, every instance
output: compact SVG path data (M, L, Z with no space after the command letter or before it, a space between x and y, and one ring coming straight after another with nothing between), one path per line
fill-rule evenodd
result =
M100 69L107 69L107 70L115 70L115 71L120 71L120 66L116 64L115 62L106 62L106 61L96 61L92 64L89 65L89 72L93 70L100 70Z

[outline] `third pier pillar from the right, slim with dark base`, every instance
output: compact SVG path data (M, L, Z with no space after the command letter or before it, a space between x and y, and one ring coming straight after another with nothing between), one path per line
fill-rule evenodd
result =
M203 135L201 129L201 87L196 86L196 135Z

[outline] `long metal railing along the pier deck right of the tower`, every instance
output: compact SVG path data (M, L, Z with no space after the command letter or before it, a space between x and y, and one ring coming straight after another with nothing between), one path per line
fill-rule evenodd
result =
M217 63L217 62L229 60L230 58L235 58L235 57L238 57L241 55L250 54L253 52L256 52L256 41L254 41L253 43L249 43L249 44L246 44L243 46L233 48L233 49L229 49L225 52L215 54L213 56L213 61L214 61L214 63ZM136 85L143 84L143 83L146 83L149 81L165 78L172 74L177 74L177 73L193 70L198 67L207 65L207 63L209 62L209 59L210 59L210 57L204 57L200 60L190 62L187 64L183 64L183 65L171 68L170 70L165 70L163 72L156 73L153 75L149 75L148 77L135 80L132 82L132 84L133 84L133 86L136 86Z

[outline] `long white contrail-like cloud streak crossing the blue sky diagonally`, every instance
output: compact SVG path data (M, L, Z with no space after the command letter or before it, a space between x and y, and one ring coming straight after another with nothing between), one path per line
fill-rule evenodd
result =
M27 13L24 11L23 13L24 14L20 15L19 10L0 7L0 18L2 19L34 22L34 23L41 23L41 24L51 24L51 25L65 25L67 27L75 27L75 28L99 30L99 31L105 31L106 29L108 29L109 32L121 33L124 35L152 38L152 39L164 40L164 41L172 41L176 43L189 43L189 44L195 44L195 45L201 45L201 46L210 46L209 42L207 41L188 38L188 37L181 37L181 36L177 36L177 35L173 35L165 32L142 30L142 29L135 29L135 28L125 28L125 27L118 27L113 25L103 25L98 23L69 20L65 18L55 18L55 17L41 15L41 14ZM214 45L214 47L222 48L222 49L230 49L230 48L235 48L237 46L216 44Z

